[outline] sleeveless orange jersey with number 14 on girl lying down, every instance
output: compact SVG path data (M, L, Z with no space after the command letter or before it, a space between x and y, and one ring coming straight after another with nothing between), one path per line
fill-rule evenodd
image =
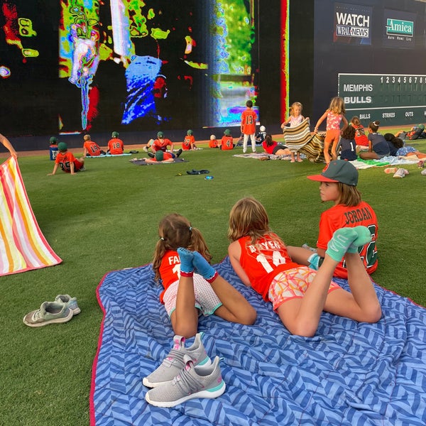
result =
M243 236L239 240L241 257L239 263L249 277L251 287L268 301L269 286L275 275L299 266L288 256L283 241L276 234L264 235L255 245L251 238Z

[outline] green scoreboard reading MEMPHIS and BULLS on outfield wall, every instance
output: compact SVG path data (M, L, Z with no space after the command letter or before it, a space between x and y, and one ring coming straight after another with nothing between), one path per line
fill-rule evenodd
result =
M426 122L426 74L339 74L339 97L346 118L359 116L364 126L408 126Z

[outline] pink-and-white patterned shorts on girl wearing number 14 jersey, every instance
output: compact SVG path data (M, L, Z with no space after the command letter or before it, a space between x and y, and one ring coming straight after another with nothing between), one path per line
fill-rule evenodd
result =
M273 310L277 310L287 300L303 297L315 275L317 275L317 271L307 266L289 269L275 275L268 293L269 300L273 304ZM332 281L328 293L337 288L341 288L340 285Z

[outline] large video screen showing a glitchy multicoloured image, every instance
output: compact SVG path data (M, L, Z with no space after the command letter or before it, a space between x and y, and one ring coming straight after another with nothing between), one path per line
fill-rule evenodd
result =
M257 10L258 0L4 0L1 132L238 126L258 96Z

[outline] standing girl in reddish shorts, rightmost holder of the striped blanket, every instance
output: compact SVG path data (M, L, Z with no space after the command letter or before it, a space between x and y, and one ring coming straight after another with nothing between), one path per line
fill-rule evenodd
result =
M330 160L337 160L337 143L339 143L340 133L348 126L348 121L346 120L344 113L346 109L344 107L344 101L341 97L334 97L329 108L322 114L321 118L317 121L315 126L315 133L318 131L318 127L327 119L327 129L324 139L324 158L325 162L328 164ZM343 127L340 129L340 123L343 121ZM332 157L330 158L329 149L330 145L332 146Z

